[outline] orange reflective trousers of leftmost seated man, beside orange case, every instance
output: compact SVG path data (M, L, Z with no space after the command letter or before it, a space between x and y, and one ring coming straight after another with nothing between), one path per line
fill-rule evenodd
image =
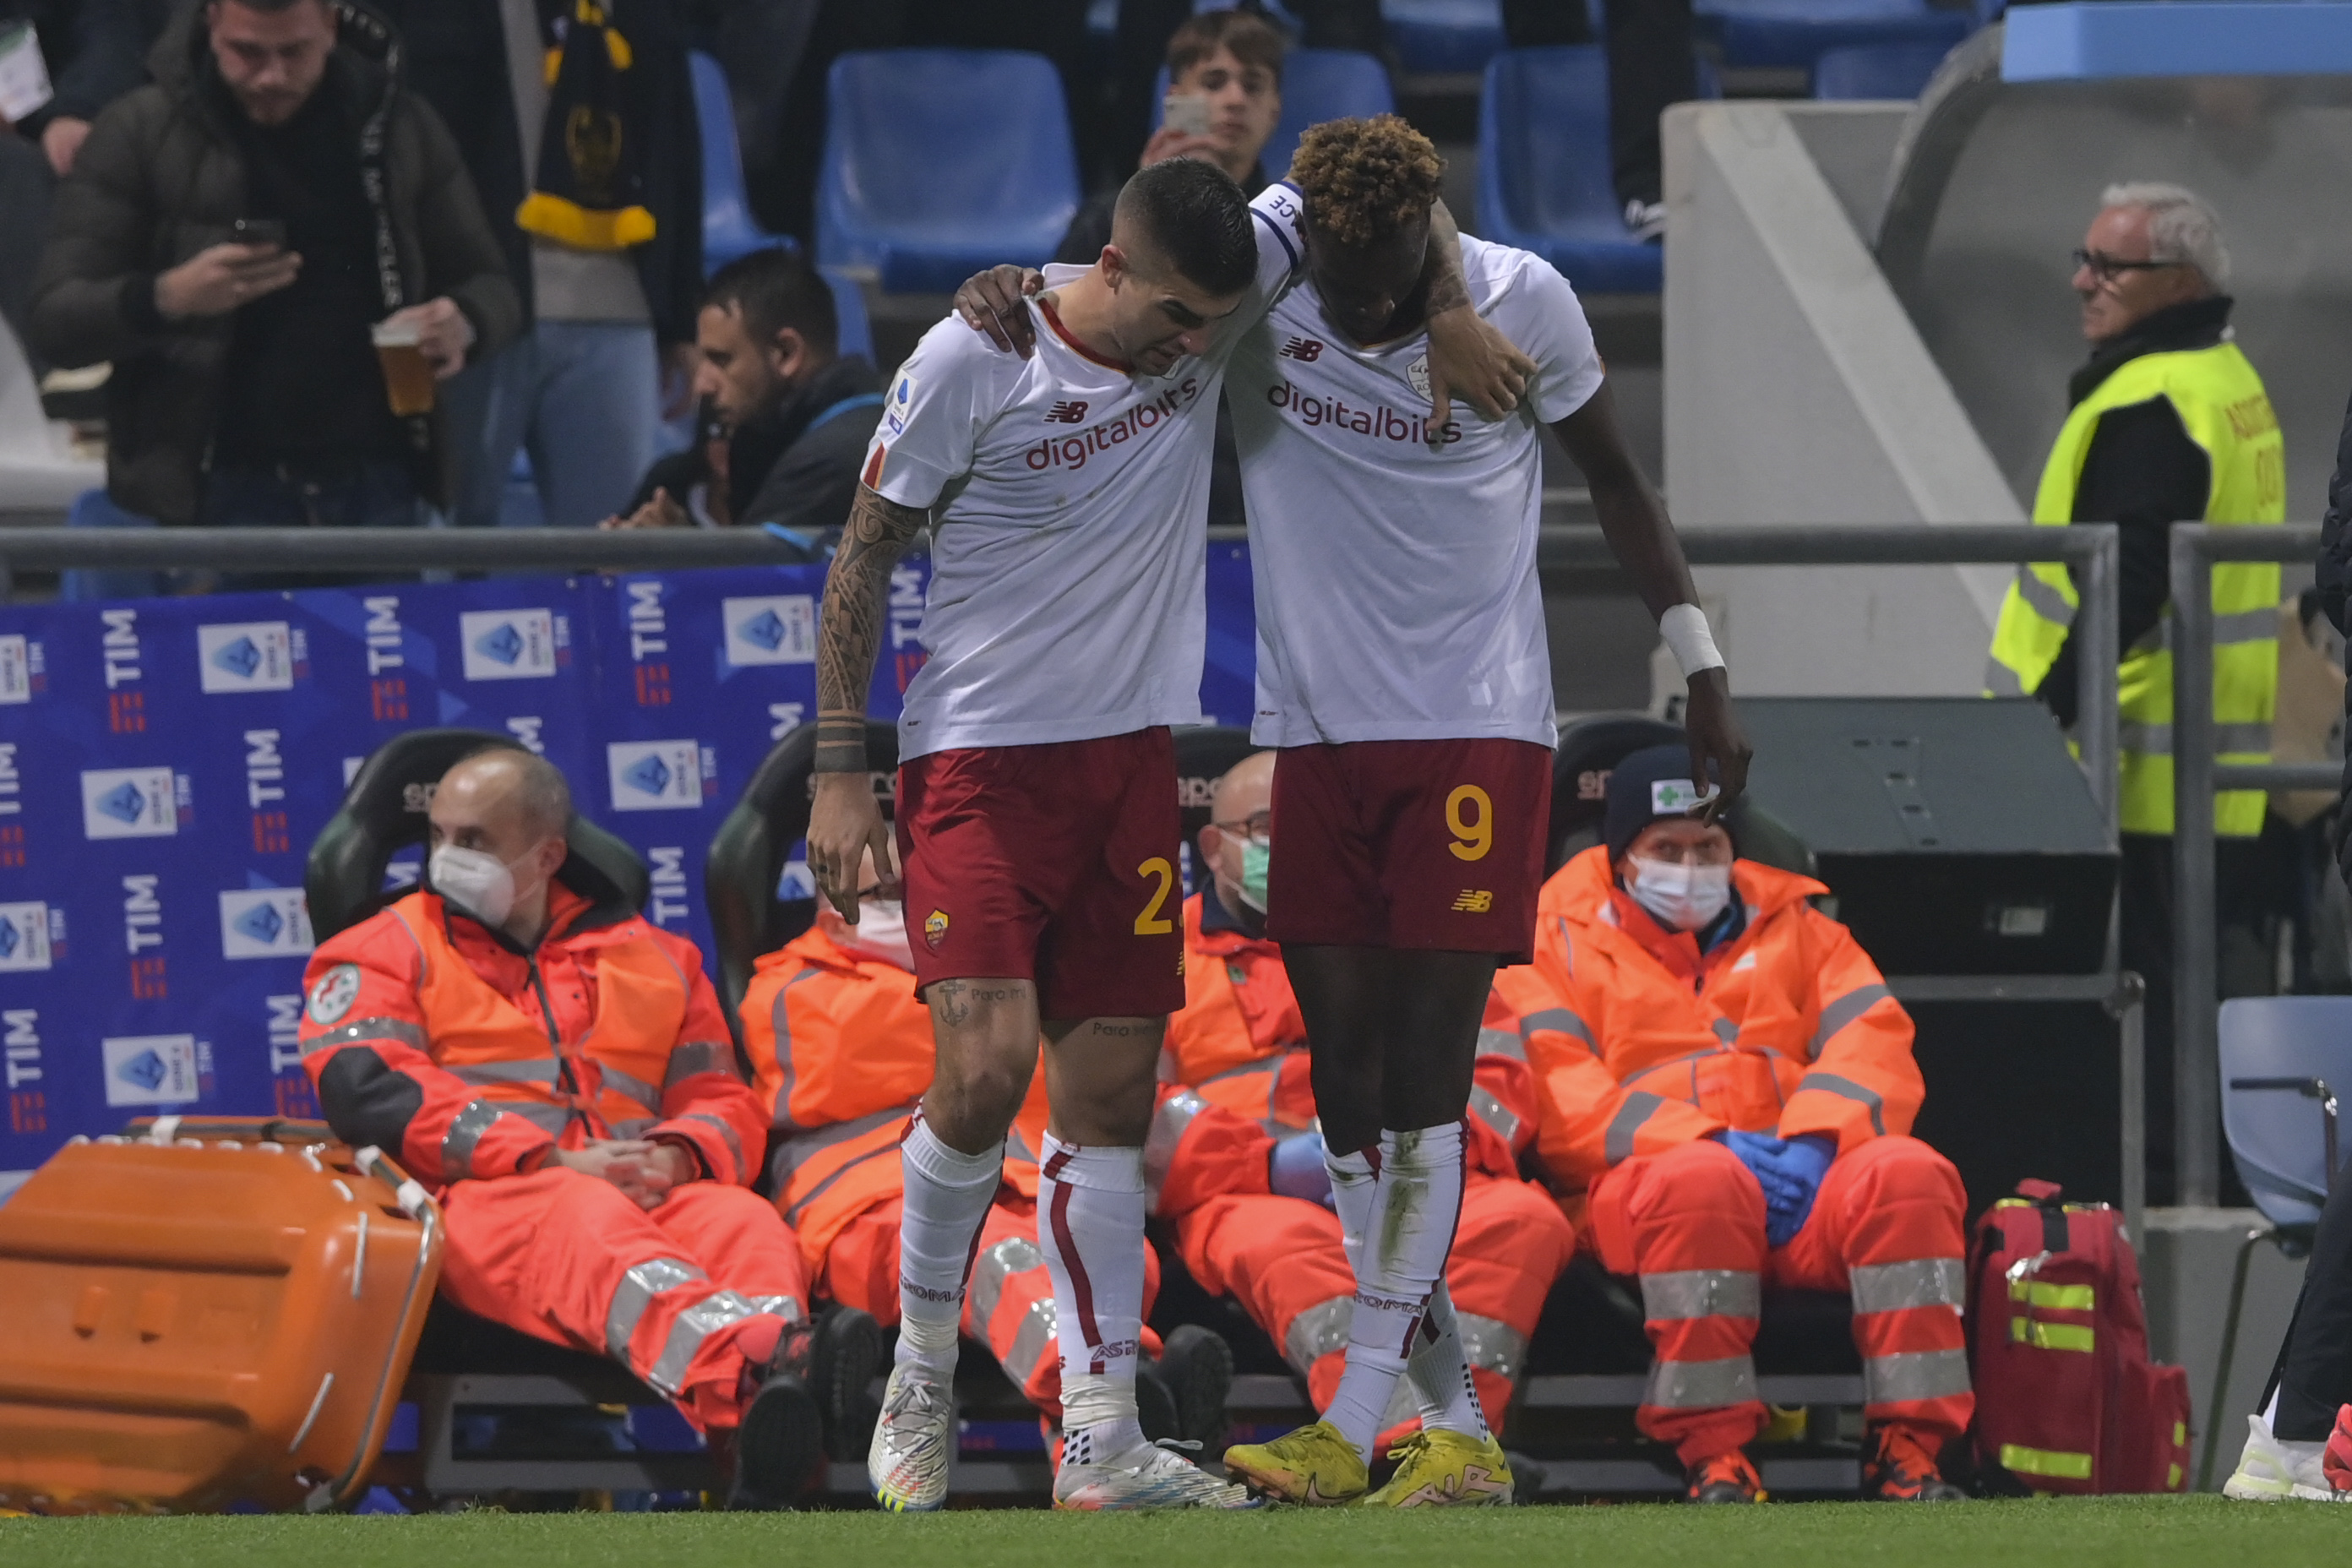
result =
M612 1356L677 1401L699 1429L741 1418L746 1352L809 1314L800 1241L767 1199L689 1182L652 1211L619 1187L550 1166L456 1182L442 1293L553 1345Z

